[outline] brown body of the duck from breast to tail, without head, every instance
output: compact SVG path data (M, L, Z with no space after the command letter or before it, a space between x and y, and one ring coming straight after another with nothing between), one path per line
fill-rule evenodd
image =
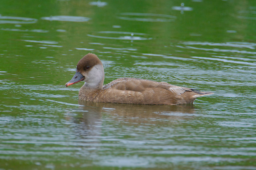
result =
M79 92L79 99L111 103L177 105L193 103L197 97L207 94L212 92L200 92L140 78L118 78L104 85L102 90L84 93L86 96L80 95Z

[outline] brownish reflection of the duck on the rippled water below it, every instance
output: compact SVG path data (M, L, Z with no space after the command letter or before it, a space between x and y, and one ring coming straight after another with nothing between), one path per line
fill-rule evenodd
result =
M88 102L79 100L79 109L83 112L76 116L79 135L100 136L102 122L125 122L126 125L161 125L163 123L177 123L178 120L188 119L188 114L194 113L193 105L139 105ZM189 116L191 117L191 116ZM166 121L167 120L167 121ZM114 123L115 124L115 123Z

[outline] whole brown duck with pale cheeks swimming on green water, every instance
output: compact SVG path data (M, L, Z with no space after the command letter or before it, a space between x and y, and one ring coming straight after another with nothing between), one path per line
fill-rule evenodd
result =
M104 78L103 64L97 55L89 53L79 60L76 73L66 87L84 81L79 100L144 105L193 104L197 97L213 94L141 78L117 78L103 85Z

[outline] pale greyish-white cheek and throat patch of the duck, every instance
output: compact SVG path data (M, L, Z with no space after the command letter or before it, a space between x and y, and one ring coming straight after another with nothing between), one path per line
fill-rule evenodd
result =
M94 65L83 80L90 88L102 88L104 82L104 68L101 64Z

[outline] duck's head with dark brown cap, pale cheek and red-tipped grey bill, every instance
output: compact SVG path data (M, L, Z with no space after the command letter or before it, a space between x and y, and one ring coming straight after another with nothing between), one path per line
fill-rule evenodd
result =
M104 68L97 55L88 53L76 65L76 74L66 83L66 87L84 81L89 88L102 88Z

